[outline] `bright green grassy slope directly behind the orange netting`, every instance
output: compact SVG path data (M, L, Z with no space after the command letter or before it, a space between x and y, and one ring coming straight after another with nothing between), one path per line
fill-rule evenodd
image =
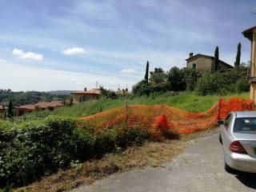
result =
M128 104L142 104L142 105L155 105L155 104L166 104L177 107L182 110L189 110L192 112L202 112L213 106L214 103L218 102L218 99L222 98L249 98L249 93L243 94L226 94L225 96L220 95L207 95L199 96L194 92L182 92L180 94L157 94L151 95L150 97L134 97L128 99ZM109 110L116 106L125 105L125 99L101 99L93 102L79 103L74 106L65 106L58 108L52 112L54 115L61 115L66 117L84 117L90 114L97 114L104 110Z

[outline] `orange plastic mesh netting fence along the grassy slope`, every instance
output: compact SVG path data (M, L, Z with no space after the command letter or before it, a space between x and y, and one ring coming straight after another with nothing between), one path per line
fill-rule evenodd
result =
M254 102L243 98L220 99L202 113L192 113L166 105L120 106L79 120L94 126L98 133L114 126L125 125L148 130L172 129L180 134L189 134L216 126L218 119L226 118L233 110L254 110Z

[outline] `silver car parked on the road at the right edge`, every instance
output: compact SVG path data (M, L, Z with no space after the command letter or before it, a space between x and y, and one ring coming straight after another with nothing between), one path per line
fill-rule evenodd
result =
M225 169L256 173L256 112L232 112L218 124Z

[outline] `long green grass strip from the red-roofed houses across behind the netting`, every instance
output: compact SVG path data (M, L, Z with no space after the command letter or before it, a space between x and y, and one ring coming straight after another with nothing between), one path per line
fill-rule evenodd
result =
M238 82L241 89L244 88L243 84ZM91 102L81 102L73 106L59 107L54 111L44 110L35 111L30 114L15 117L14 122L33 121L34 119L46 118L49 115L56 115L62 117L81 118L91 114L97 114L102 111L110 110L117 106L124 106L126 102L128 105L157 105L166 104L174 106L182 110L188 110L191 112L202 112L208 110L219 98L249 98L248 92L242 93L229 93L229 94L212 94L212 95L198 95L195 91L182 91L174 92L167 91L166 93L153 93L149 96L130 96L128 98L102 98Z

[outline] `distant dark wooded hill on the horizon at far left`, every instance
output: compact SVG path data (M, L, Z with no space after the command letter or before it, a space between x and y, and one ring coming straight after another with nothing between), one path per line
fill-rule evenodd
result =
M70 93L64 92L40 92L40 91L18 91L14 92L11 90L0 90L0 106L8 106L9 102L12 101L14 106L22 106L26 104L34 104L37 102L51 102L53 100L63 100L70 98ZM62 94L61 94L62 93ZM66 93L66 94L63 94Z

